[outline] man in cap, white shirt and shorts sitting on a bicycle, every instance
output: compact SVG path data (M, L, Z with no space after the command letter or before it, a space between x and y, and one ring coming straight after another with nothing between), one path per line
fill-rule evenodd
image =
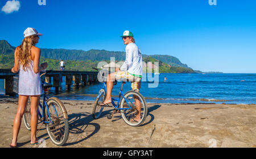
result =
M142 78L142 54L138 46L135 44L133 33L130 31L123 32L122 40L126 45L126 59L121 68L116 68L114 73L108 75L108 80L106 83L107 93L106 99L101 104L108 105L111 103L111 93L113 89L114 80L131 81L131 88L134 91L138 91L141 88L141 78ZM134 98L135 105L138 110L137 116L131 119L131 122L139 122L141 120L141 101Z

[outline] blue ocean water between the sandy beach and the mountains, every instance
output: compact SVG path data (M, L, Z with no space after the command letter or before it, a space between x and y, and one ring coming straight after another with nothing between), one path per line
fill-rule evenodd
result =
M63 77L58 94L52 88L48 96L94 101L102 88L102 83L94 83L79 88L73 86L68 91L64 81ZM130 85L130 82L124 85L123 93L131 89ZM120 88L121 82L114 86L112 95L117 96ZM140 93L147 102L256 104L256 74L144 74Z

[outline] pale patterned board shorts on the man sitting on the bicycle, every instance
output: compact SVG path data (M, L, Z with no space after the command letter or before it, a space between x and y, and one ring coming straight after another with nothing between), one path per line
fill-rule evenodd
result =
M141 78L129 74L127 71L115 72L115 79L117 81L130 81L131 89L138 91L141 89Z

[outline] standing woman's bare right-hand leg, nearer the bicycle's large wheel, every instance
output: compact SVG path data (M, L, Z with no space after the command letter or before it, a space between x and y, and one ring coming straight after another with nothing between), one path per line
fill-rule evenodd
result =
M40 95L39 96L31 96L31 144L36 143L38 140L36 139L36 130L38 128L38 105L40 101Z

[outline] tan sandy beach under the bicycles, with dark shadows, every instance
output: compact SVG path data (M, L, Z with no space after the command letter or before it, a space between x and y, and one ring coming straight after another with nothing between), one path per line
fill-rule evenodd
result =
M256 147L254 104L148 104L146 121L131 127L119 113L109 120L110 108L104 109L102 118L93 119L92 101L62 102L69 117L69 137L63 147ZM0 147L9 147L17 108L17 98L0 99ZM39 124L38 131L37 137L46 140L46 147L58 147L44 125ZM22 122L18 147L39 146L30 145L30 131Z

